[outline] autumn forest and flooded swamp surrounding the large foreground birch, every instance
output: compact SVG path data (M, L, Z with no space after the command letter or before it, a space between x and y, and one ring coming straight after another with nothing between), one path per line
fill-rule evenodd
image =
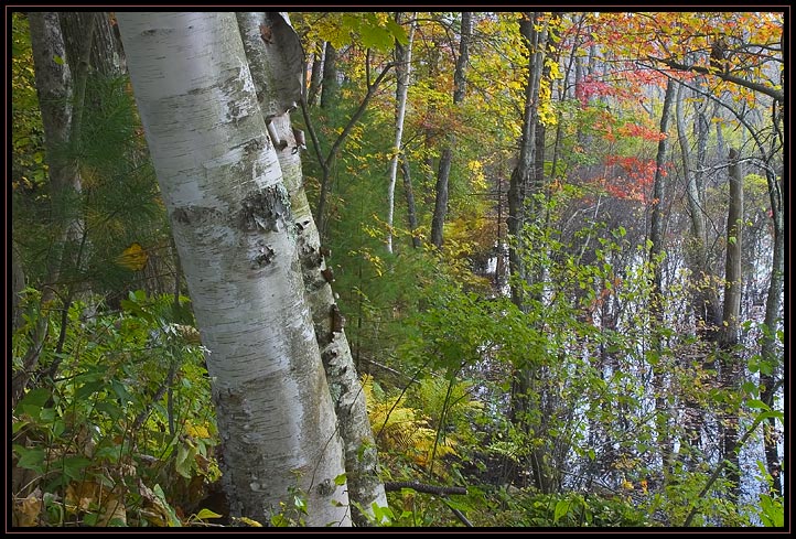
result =
M286 184L299 170L291 226L316 228L293 268L300 295L329 291L313 360L334 400L324 346L345 339L354 452L373 444L388 502L357 506L336 408L354 524L785 526L788 17L258 19L301 87L271 116L258 98ZM148 58L117 13L7 26L11 524L327 522L298 477L252 486L278 500L257 515L230 495L230 364L150 151Z

